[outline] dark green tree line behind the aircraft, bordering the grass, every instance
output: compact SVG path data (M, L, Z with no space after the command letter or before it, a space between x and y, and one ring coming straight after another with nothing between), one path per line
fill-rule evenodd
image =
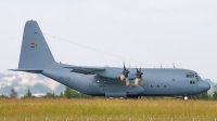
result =
M11 94L9 96L7 95L0 95L0 98L17 98L17 93L14 89L11 89ZM41 95L40 97L36 97L31 94L30 90L27 90L27 93L21 97L23 98L92 98L90 95L82 94L80 92L77 92L68 86L65 86L65 91L62 92L60 95L56 95L54 93L47 93L46 95ZM159 96L150 96L148 98L152 99L161 99L164 97ZM214 92L213 95L208 95L207 92L200 93L197 95L191 95L192 99L206 99L206 100L217 100L217 91Z

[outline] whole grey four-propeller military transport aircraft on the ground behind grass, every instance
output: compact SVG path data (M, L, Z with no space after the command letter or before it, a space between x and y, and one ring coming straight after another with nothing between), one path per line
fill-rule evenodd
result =
M26 22L18 69L41 73L92 96L175 96L189 99L210 89L192 70L178 68L85 67L56 63L36 21Z

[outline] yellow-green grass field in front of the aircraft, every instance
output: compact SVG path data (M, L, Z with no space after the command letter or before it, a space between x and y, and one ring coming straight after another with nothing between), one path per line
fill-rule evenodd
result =
M0 121L215 121L215 118L217 102L213 100L0 99Z

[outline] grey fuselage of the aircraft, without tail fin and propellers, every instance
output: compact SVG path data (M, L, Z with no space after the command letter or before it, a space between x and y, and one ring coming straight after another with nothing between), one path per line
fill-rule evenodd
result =
M122 68L107 67L106 71L110 70L115 77ZM135 85L131 78L128 86L119 79L82 75L65 68L44 69L41 73L76 91L95 96L183 96L195 95L210 88L200 76L187 77L189 72L196 75L192 70L176 68L142 68L141 70L144 73L144 84Z

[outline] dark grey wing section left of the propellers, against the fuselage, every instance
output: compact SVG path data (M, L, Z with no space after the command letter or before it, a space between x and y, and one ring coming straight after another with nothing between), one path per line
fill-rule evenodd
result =
M84 75L94 75L97 72L105 71L106 69L103 67L65 67L72 69L73 72L84 73Z

